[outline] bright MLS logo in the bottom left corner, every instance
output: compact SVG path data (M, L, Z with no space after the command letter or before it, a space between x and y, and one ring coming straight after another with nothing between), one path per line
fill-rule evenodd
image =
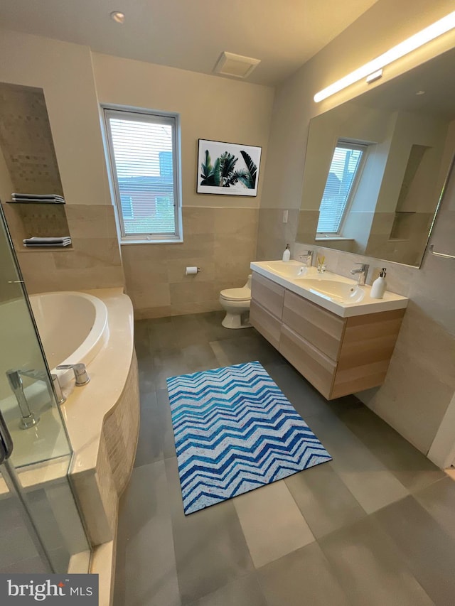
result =
M98 606L98 575L0 575L0 604Z

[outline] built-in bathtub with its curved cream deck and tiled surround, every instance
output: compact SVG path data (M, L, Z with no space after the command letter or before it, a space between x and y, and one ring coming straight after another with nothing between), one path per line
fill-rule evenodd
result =
M11 433L17 446L13 458L24 450L33 453L33 461L43 460L43 465L30 467L26 466L28 460L14 461L18 467L23 465L24 486L47 487L50 482L60 482L68 472L91 546L101 546L101 555L93 558L90 571L100 573L100 592L107 594L100 604L108 604L118 501L132 472L139 435L132 302L121 287L89 293L43 293L30 296L30 301L48 366L60 381L69 382L64 389L67 400L58 407L47 404L40 408L38 396L33 399L27 393L32 408L41 415L41 421L31 431L18 429L18 408L10 389L6 390L4 401L0 393L0 408L5 410L6 400L11 402L15 423ZM7 352L11 367L41 369L41 352L30 340L31 323L25 303L8 301L0 303L0 307L4 319L2 336L11 337ZM29 347L23 347L23 340ZM0 347L2 354L6 352ZM73 371L55 370L59 364L75 362L87 364L91 378L88 385L80 388L73 388ZM31 389L39 389L43 401L48 403L43 382L35 381L26 387L27 391ZM57 413L63 416L72 447L69 470L67 463L60 465L60 460L66 459L61 455L68 454L68 443L63 428L58 435L53 431L51 417ZM49 426L51 440L46 437Z

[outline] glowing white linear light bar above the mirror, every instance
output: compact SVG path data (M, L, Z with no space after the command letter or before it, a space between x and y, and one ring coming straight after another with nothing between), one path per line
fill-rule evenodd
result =
M343 88L354 84L354 82L362 80L362 78L380 70L382 67L385 67L385 65L390 65L393 61L400 59L400 57L404 57L407 53L411 53L412 50L416 50L419 46L426 44L430 40L434 40L434 38L441 36L441 34L450 31L454 27L455 11L439 19L439 21L432 23L431 26L422 29L422 31L415 33L414 36L407 38L407 40L403 40L400 44L397 44L385 53L382 53L378 58L373 59L373 61L365 63L365 65L359 67L358 70L350 72L350 74L341 78L341 80L337 80L330 86L316 92L314 95L315 102L319 103L323 99L327 99L331 94L335 94L336 92L343 90Z

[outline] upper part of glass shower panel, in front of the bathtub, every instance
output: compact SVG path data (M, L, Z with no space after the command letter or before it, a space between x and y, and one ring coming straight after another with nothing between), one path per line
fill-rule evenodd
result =
M23 467L50 459L69 460L68 437L21 274L4 224L0 229L0 410L14 440L12 462Z

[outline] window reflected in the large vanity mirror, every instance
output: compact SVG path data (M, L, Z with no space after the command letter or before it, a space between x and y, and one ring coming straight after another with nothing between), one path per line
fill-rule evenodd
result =
M336 144L319 207L318 234L339 234L363 166L366 148L366 145L348 141Z

